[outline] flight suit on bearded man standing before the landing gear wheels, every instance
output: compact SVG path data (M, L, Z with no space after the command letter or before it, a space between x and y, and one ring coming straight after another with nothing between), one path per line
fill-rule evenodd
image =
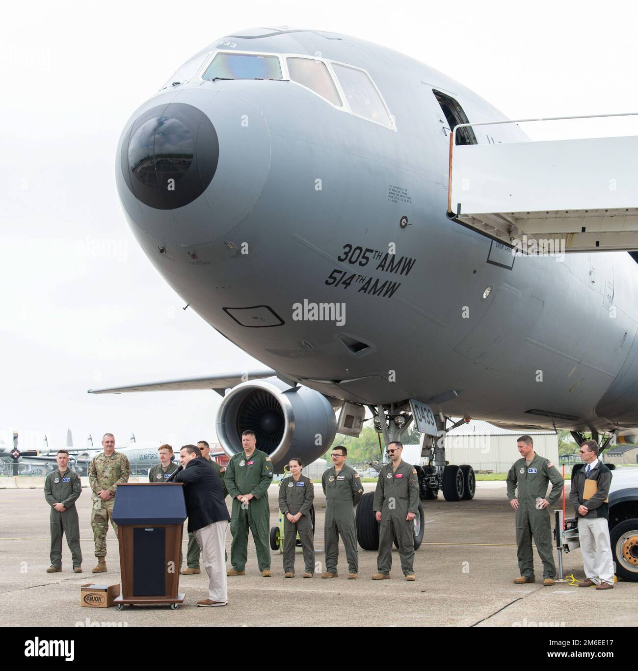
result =
M379 573L387 576L392 568L393 529L399 541L401 570L404 576L414 573L414 522L406 519L408 513L418 514L418 476L412 464L402 460L396 470L392 470L392 462L381 466L374 510L381 511Z

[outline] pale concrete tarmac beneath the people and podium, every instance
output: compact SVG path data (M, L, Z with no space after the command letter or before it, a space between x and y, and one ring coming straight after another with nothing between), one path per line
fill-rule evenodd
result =
M365 484L372 491L374 484ZM569 483L566 487L569 495ZM269 491L271 525L276 525L277 488ZM226 499L228 503L228 499ZM180 576L186 600L177 611L167 606L86 608L80 606L80 585L120 582L118 541L109 528L105 574L91 574L97 563L91 531L91 492L77 502L83 574L71 570L71 553L62 548L62 572L46 573L49 561L49 513L42 489L0 490L0 625L23 626L406 626L464 627L633 626L638 583L617 582L613 590L535 584L515 585L518 577L514 511L504 482L479 482L473 501L425 501L424 542L414 556L415 582L406 582L396 550L392 580L373 582L376 552L359 548L359 579L347 580L347 562L340 546L339 577L325 580L325 498L315 485L317 574L303 579L298 552L295 578L284 578L279 552L272 552L272 578L261 578L250 540L246 576L228 578L228 606L199 608L208 597L203 571ZM571 513L567 510L567 516ZM553 519L553 516L552 516ZM183 543L186 556L186 533ZM230 554L230 530L226 546ZM230 562L228 564L230 568ZM584 577L580 550L563 557L565 574ZM537 580L543 575L535 552Z

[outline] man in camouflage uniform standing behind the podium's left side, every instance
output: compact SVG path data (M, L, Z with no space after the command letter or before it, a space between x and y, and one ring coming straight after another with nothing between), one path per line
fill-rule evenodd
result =
M93 490L93 510L91 511L91 527L95 539L95 556L97 566L93 573L106 572L106 532L109 519L113 531L118 535L118 525L113 522L113 505L115 505L116 488L121 482L128 482L130 464L126 454L116 452L116 439L112 433L102 437L103 454L93 457L89 467L89 484Z

